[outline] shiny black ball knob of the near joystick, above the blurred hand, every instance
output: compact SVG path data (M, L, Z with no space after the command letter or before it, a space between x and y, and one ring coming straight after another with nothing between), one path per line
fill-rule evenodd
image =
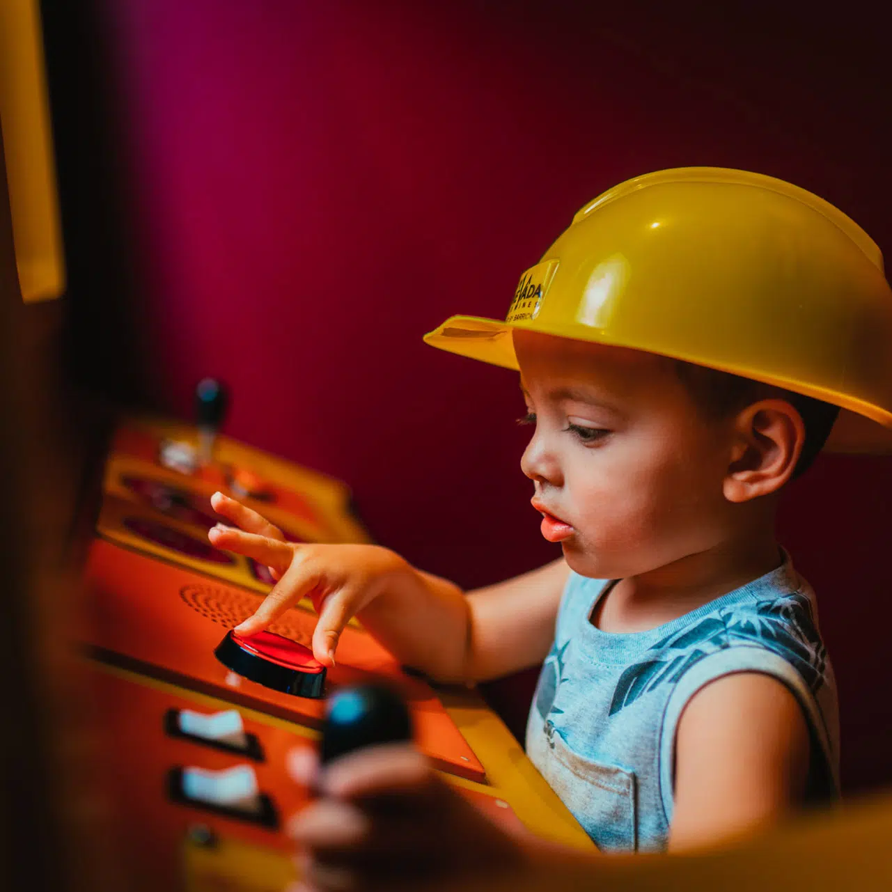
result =
M380 684L343 688L326 700L322 764L354 749L412 739L409 710L396 691Z

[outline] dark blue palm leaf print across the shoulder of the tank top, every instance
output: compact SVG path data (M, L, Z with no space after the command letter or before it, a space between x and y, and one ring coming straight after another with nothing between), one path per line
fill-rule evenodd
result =
M812 603L801 594L763 601L746 613L731 607L673 632L648 649L652 659L629 666L616 682L610 714L666 681L676 682L692 665L718 650L739 645L766 648L794 666L812 692L823 683L827 650L818 634Z

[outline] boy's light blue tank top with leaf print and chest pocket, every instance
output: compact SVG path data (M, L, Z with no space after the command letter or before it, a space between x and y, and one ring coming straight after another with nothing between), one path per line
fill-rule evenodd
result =
M601 632L604 580L571 573L526 728L533 764L605 851L662 851L673 814L675 731L709 681L772 675L812 733L812 801L838 796L836 684L814 593L784 556L772 573L647 632Z

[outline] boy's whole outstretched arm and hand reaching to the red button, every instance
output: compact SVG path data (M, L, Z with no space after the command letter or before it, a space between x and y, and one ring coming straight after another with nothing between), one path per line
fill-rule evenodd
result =
M436 681L482 681L537 665L554 640L555 617L569 567L563 558L484 589L465 592L378 545L285 541L250 508L217 492L211 505L235 527L219 524L208 538L266 564L277 583L257 612L238 626L256 634L301 598L319 619L313 655L335 665L344 626L363 628L401 665Z

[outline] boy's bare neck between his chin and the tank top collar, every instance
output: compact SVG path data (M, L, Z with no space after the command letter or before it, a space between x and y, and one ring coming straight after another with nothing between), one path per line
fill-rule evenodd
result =
M602 632L645 632L770 573L781 561L774 531L767 527L620 580L599 600L591 622Z

